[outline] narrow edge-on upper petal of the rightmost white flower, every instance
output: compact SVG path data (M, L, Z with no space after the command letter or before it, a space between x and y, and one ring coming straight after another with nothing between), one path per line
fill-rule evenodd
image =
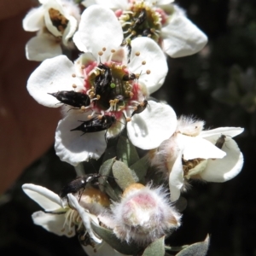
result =
M227 137L236 137L241 132L243 132L244 129L241 127L220 127L217 129L212 129L208 131L201 131L200 137L212 137L211 139L218 139L221 135L225 135ZM213 138L214 137L214 138ZM216 142L216 141L215 141Z

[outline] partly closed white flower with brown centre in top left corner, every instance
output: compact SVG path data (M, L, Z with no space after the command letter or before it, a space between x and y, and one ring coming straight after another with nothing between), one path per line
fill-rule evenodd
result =
M28 32L38 32L26 44L26 58L44 61L61 55L61 45L73 47L70 39L80 19L79 7L69 0L38 0L42 5L32 9L23 20Z

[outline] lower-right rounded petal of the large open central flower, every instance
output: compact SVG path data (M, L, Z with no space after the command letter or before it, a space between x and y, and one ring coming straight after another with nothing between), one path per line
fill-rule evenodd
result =
M128 137L138 148L151 149L160 146L176 130L177 117L166 104L148 101L142 113L132 116L127 124Z

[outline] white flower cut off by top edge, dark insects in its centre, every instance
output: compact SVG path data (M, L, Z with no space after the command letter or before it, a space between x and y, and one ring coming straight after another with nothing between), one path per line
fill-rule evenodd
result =
M113 9L122 24L126 41L153 38L173 58L193 55L207 44L207 36L173 0L85 0L84 6L100 4Z

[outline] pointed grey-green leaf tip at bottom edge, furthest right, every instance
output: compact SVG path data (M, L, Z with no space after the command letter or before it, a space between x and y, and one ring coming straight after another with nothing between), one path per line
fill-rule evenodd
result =
M207 235L205 241L196 242L184 248L182 251L176 254L176 256L205 256L207 255L210 238Z

